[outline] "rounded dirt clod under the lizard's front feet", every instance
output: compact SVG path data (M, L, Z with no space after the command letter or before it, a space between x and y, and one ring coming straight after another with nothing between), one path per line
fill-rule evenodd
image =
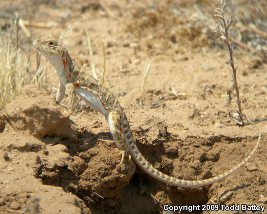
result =
M49 92L27 85L5 106L5 113L12 127L35 137L57 135L77 138L73 122L59 117L60 109L63 110L63 107Z

